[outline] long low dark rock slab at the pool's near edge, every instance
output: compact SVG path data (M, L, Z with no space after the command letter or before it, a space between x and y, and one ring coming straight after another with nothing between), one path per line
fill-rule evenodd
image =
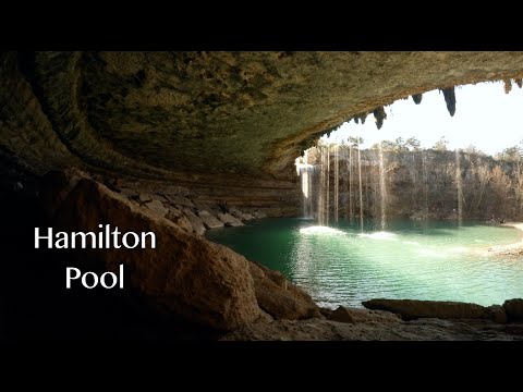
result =
M401 315L403 320L418 318L486 319L507 322L500 306L486 307L477 304L417 299L369 299L362 303L367 309L387 310Z

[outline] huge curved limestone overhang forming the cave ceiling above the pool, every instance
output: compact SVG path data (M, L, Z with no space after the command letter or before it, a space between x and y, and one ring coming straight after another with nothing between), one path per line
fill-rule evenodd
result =
M2 53L0 150L36 173L74 164L292 215L293 160L326 130L409 95L520 78L521 64L521 52Z

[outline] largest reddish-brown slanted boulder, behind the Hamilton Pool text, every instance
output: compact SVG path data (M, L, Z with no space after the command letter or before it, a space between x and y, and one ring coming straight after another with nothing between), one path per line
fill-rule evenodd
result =
M154 232L156 248L82 249L87 270L124 265L125 287L153 304L217 330L232 330L270 318L259 308L251 264L233 250L181 230L168 219L131 204L93 180L81 179L60 206L52 206L56 230L98 232L99 223L121 232Z

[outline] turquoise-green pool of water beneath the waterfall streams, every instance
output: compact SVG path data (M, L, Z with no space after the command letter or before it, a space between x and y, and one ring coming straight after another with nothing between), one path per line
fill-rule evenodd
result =
M523 258L489 255L522 240L513 228L454 222L317 226L313 220L263 219L207 232L250 260L281 271L320 306L361 306L369 298L502 304L523 297Z

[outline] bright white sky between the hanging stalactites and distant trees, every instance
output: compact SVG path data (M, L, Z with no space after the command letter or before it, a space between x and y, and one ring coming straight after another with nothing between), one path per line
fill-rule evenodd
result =
M415 136L422 147L433 147L442 136L449 149L474 145L479 150L495 155L523 140L523 88L514 83L504 94L503 83L482 83L455 88L455 113L450 117L443 94L433 90L423 95L419 105L412 98L399 100L385 108L387 119L381 130L376 127L374 115L365 124L344 123L330 134L330 143L340 143L348 136L362 136L363 148L385 140Z

